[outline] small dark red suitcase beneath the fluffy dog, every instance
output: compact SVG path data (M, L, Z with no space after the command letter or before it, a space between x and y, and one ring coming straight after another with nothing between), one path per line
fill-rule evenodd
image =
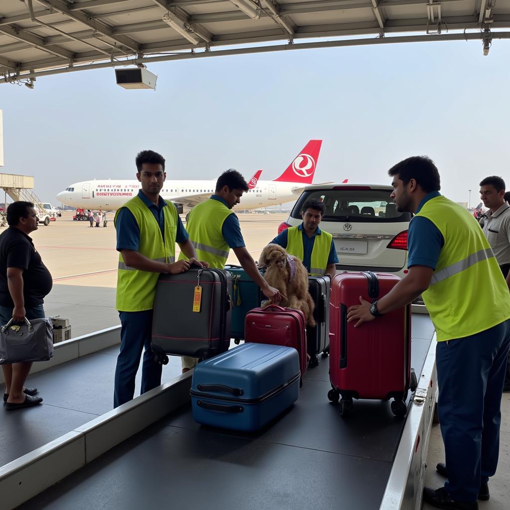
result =
M294 347L301 376L307 371L307 321L301 310L276 304L250 310L244 321L244 341Z

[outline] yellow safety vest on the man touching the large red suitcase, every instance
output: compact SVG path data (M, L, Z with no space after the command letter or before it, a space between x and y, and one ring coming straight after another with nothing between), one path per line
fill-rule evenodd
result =
M438 196L425 202L416 216L428 218L444 239L423 293L438 342L476 335L509 319L508 286L473 215Z

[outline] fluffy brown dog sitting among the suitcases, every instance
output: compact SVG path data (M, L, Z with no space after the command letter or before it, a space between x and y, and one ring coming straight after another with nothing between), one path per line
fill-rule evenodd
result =
M303 312L307 324L315 326L312 296L308 292L308 271L303 263L293 255L289 255L282 246L268 244L261 253L259 264L266 267L266 282L280 291L282 307L294 308ZM270 301L264 303L267 307Z

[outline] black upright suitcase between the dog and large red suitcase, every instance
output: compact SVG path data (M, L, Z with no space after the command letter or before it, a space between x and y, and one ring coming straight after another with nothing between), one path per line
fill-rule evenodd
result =
M327 356L329 352L329 276L309 276L308 291L315 303L314 319L317 325L307 327L308 353L310 367L319 364L318 355L322 352Z

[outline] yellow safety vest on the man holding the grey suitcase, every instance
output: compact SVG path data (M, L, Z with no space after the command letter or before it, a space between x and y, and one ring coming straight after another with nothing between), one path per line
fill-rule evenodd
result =
M140 245L138 252L148 259L172 263L175 262L175 237L177 235L177 221L179 215L173 203L167 201L163 207L165 216L165 242L154 214L138 196L132 198L123 207L129 209L140 229ZM122 210L115 213L113 220L117 226L117 216ZM117 297L116 308L122 312L141 312L154 308L156 284L159 273L139 271L126 266L122 254L119 252L119 265L117 271Z

